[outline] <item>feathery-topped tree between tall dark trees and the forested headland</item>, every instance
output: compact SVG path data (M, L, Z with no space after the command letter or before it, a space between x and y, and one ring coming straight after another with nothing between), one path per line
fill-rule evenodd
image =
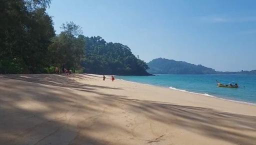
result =
M75 71L84 56L85 37L81 35L81 27L72 21L62 24L61 28L50 45L52 65Z

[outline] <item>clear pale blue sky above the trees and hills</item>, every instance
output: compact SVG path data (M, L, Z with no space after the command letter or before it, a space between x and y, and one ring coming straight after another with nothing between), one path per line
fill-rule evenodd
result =
M85 36L218 71L256 69L256 0L52 0L56 33L66 21Z

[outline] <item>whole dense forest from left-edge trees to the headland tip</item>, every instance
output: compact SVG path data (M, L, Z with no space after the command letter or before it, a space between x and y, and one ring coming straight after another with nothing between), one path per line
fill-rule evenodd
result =
M149 75L147 64L121 43L87 37L72 21L55 34L50 0L0 0L0 73L73 72Z

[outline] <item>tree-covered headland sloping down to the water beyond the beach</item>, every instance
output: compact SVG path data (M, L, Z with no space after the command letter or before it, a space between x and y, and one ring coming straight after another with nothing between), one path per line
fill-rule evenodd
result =
M85 37L85 58L82 66L87 73L148 75L146 63L121 43L106 42L100 36Z

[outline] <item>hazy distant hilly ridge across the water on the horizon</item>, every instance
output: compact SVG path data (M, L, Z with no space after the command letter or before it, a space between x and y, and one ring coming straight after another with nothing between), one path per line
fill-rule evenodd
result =
M215 71L213 68L205 67L201 64L195 65L185 61L175 61L172 59L156 58L147 63L151 74L256 74L256 70L251 71Z

